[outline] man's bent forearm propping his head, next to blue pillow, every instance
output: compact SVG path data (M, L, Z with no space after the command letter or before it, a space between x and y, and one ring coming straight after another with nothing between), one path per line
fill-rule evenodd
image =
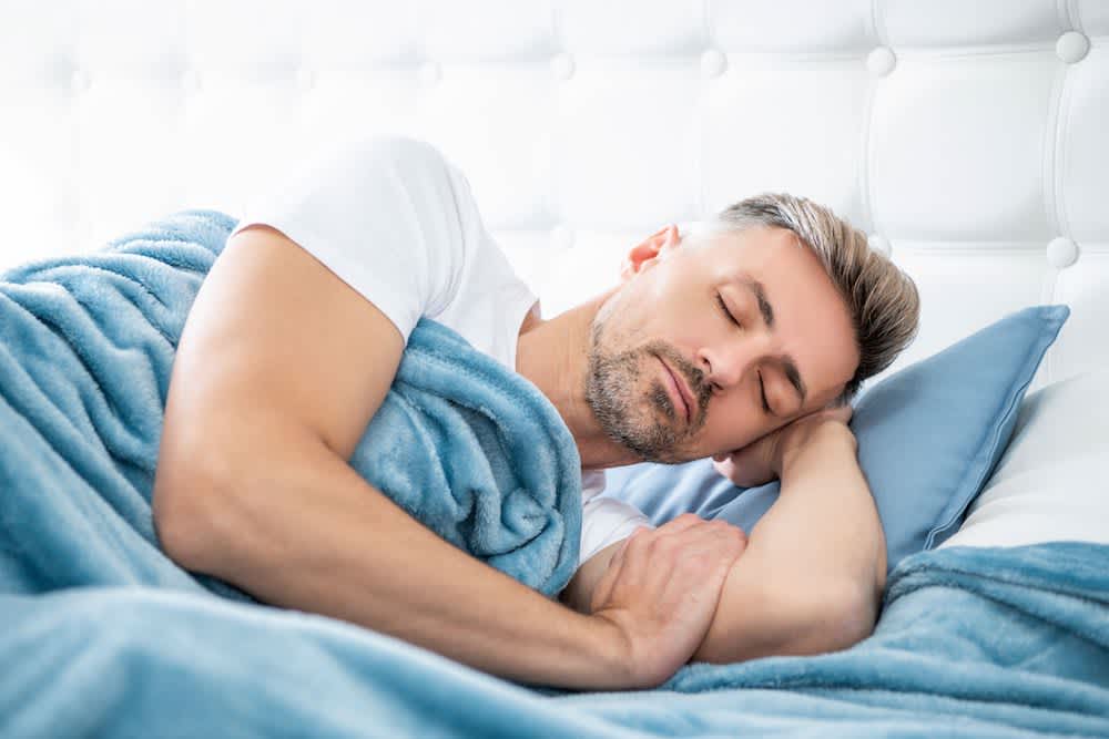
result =
M784 460L779 500L750 532L693 659L846 648L873 630L885 572L854 439L828 425Z

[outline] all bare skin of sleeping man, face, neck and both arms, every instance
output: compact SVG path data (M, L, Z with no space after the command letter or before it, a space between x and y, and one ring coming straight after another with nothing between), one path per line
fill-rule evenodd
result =
M264 603L540 685L652 687L691 657L863 638L885 572L881 525L854 437L842 420L802 415L854 370L846 310L788 234L729 238L690 249L668 226L644 239L612 290L523 321L517 369L558 408L587 469L639 461L620 438L659 459L741 449L730 459L763 460L782 494L750 537L689 514L640 530L579 568L561 597L572 608L445 542L348 464L396 374L400 333L305 249L252 226L228 239L179 343L152 501L160 543ZM775 330L725 285L740 269L764 283ZM720 312L718 288L741 326ZM692 424L660 397L669 376L647 349L708 398ZM804 406L779 367L786 351ZM591 383L625 386L621 428L594 411Z

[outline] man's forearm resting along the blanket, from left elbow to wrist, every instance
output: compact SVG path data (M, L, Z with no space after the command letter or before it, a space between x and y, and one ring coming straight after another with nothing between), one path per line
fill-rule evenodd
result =
M323 444L295 453L297 463L255 468L252 490L265 494L208 499L208 545L191 568L509 679L627 687L600 619L457 550Z

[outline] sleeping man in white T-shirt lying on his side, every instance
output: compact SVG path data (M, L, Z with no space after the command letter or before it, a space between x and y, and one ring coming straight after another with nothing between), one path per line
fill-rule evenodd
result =
M521 682L653 687L686 661L846 648L885 541L847 401L916 330L912 280L808 201L668 225L602 295L541 318L435 148L375 137L247 206L177 349L154 489L182 566ZM433 318L532 382L577 442L579 567L558 602L469 556L348 464ZM714 456L781 495L751 532L658 528L603 470Z

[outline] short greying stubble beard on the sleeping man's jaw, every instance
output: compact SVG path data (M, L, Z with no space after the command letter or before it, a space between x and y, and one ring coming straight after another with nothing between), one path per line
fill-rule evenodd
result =
M608 315L611 312L600 311L593 320L586 377L586 402L601 429L647 462L679 464L696 459L688 450L683 453L682 443L704 427L711 397L711 388L704 384L704 372L661 340L623 351L608 350L604 346ZM698 411L684 429L676 428L682 420L681 410L674 408L670 392L660 380L654 379L645 392L640 387L643 367L655 369L655 358L663 357L685 377L698 400Z

